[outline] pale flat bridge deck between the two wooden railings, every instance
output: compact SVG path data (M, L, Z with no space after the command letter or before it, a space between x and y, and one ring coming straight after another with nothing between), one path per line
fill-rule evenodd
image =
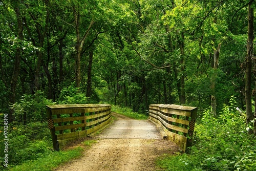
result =
M162 139L158 128L150 121L129 119L116 113L112 115L118 119L97 138Z

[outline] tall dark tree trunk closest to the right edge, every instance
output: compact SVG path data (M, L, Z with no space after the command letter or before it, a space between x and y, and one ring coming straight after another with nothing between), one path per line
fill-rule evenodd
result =
M248 40L246 53L246 69L245 69L245 104L246 104L246 123L249 124L253 120L251 109L251 76L252 76L252 58L253 58L253 8L252 3L248 5ZM253 130L249 129L249 134Z

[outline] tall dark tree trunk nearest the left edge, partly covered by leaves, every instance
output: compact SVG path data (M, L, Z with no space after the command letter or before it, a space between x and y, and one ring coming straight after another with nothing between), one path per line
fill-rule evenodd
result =
M14 10L15 10L16 17L17 17L17 38L19 40L23 40L22 16L20 14L20 10L19 10L18 6L16 6ZM21 57L22 57L21 49L18 45L16 48L16 52L15 52L14 69L13 69L13 74L12 74L12 78L11 78L10 99L9 99L10 103L15 102L15 92L16 92L16 87L17 87ZM14 121L13 113L14 113L14 111L10 110L10 113L8 115L8 122Z

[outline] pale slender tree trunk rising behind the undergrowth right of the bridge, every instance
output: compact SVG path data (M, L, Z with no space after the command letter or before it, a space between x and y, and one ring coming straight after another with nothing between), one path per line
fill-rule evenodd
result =
M213 64L213 68L214 68L214 75L211 78L211 108L212 111L211 113L216 116L217 115L217 99L216 99L216 90L215 90L215 86L216 86L216 79L217 79L217 69L219 67L219 57L220 57L220 50L221 50L221 44L218 45L218 48L216 50L214 50L214 64Z

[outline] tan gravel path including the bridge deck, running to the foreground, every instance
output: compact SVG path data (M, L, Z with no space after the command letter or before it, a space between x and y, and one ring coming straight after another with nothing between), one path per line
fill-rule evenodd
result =
M147 120L135 120L114 113L117 118L93 138L97 143L86 148L82 157L55 170L159 170L156 159L179 152L176 144L162 139L157 127ZM68 148L79 146L73 144Z

